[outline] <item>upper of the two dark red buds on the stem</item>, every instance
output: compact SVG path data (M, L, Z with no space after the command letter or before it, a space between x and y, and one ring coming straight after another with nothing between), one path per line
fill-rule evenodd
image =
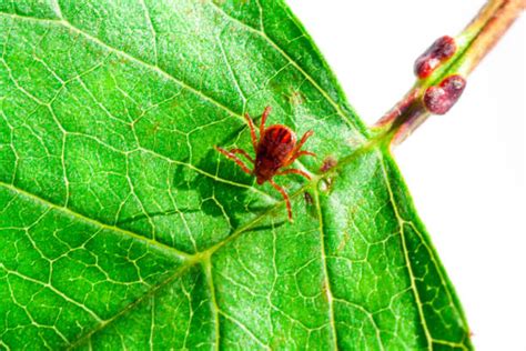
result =
M431 76L433 71L444 61L447 61L456 51L455 39L452 37L438 38L415 61L415 74L419 79Z

